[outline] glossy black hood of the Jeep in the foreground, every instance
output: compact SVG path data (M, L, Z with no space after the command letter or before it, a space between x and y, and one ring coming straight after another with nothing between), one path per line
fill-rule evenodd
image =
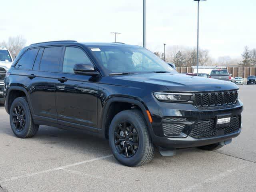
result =
M135 74L116 76L114 78L128 80L132 82L144 82L149 84L166 86L166 88L168 88L171 92L202 92L238 89L238 86L232 82L212 78L188 76L185 74Z

